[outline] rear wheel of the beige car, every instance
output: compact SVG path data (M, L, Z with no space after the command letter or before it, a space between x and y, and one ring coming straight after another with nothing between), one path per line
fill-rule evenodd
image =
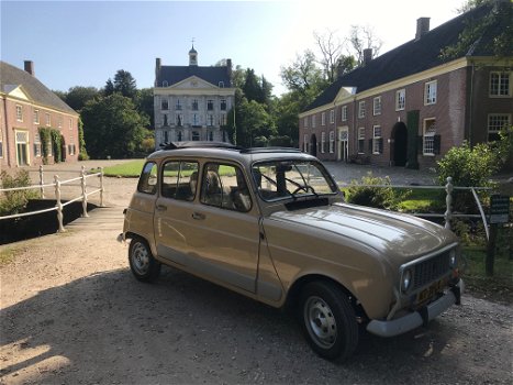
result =
M130 242L130 270L141 282L153 282L160 274L160 263L155 260L148 243L138 237Z

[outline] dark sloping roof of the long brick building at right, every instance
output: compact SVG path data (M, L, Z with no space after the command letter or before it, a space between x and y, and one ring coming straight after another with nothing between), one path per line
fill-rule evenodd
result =
M411 76L430 68L437 67L451 59L440 58L443 48L454 45L464 29L477 20L484 18L491 10L486 4L423 34L419 40L412 40L397 48L370 61L366 66L358 67L339 77L328 86L304 111L333 102L342 87L356 87L357 92L378 87ZM464 56L493 56L492 40L504 25L491 25L478 38Z

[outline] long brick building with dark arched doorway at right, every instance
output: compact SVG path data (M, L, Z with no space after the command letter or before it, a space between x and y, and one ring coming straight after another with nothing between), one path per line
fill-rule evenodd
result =
M450 147L498 139L512 122L513 53L498 58L489 25L465 55L444 61L465 26L493 7L466 12L339 77L300 114L300 148L325 161L433 167ZM511 12L510 12L511 13ZM509 28L511 29L511 21Z

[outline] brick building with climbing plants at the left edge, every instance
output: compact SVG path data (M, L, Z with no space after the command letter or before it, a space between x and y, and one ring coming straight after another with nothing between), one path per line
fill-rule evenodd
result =
M24 70L0 62L0 169L55 163L55 144L43 143L41 129L59 132L60 161L78 160L79 116L35 78L32 62Z

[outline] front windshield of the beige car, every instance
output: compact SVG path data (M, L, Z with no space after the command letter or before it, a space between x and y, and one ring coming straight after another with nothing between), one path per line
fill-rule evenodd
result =
M336 185L319 162L272 161L256 163L253 178L264 200L335 194Z

